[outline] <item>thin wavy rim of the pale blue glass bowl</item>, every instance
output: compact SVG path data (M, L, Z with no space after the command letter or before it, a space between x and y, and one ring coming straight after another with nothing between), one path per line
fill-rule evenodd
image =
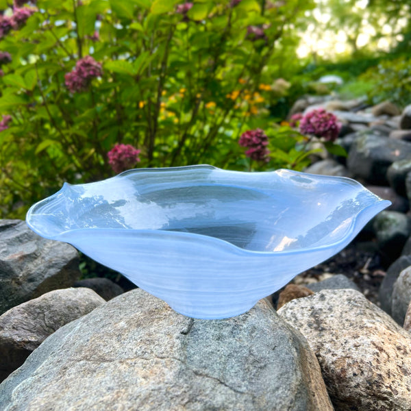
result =
M252 172L247 172L247 171L233 171L233 170L223 170L223 169L219 169L218 167L215 166L210 166L208 164L198 164L198 165L192 165L192 166L179 166L179 167L162 167L162 168L158 168L158 169L130 169L127 171L123 171L123 173L120 173L118 175L115 175L114 177L109 177L108 179L117 179L119 177L125 177L126 175L129 174L134 174L134 173L141 173L141 172L163 172L163 171L169 171L169 170L178 170L178 169L214 169L214 170L218 170L221 171L223 173L247 173L247 174L252 174ZM232 251L236 251L236 253L239 254L246 254L246 255L251 255L251 256L255 256L255 255L259 255L259 256L292 256L293 254L301 254L301 253L308 253L308 252L312 252L312 251L321 251L321 250L325 250L325 249L330 249L330 248L334 248L340 245L343 245L343 247L345 246L345 243L349 243L351 240L349 240L352 236L353 233L356 231L356 222L358 221L359 217L362 216L362 214L365 214L366 212L368 212L370 209L375 208L375 212L373 212L372 216L370 219L372 219L375 215L377 215L379 212L381 212L382 210L384 210L385 208L387 208L388 206L391 205L391 201L388 200L384 200L381 199L380 197L378 197L377 195L373 194L373 192L371 192L370 190L368 190L367 188L365 188L364 186L362 186L362 184L360 184L359 182L357 182L355 179L351 179L349 177L340 177L340 176L329 176L329 175L318 175L318 174L311 174L311 173L303 173L301 171L294 171L294 170L288 170L288 169L277 169L275 171L262 171L262 172L258 172L260 173L275 173L275 174L279 174L279 172L288 172L291 174L295 174L295 175L306 175L306 176L310 176L310 177L314 177L316 179L332 179L332 180L340 180L340 181L346 181L349 182L350 184L353 184L353 186L357 186L358 188L360 188L361 190L364 190L366 192L369 192L370 194L372 194L376 200L375 203L367 206L366 208L363 208L362 210L360 210L360 212L358 212L355 216L353 216L353 220L351 221L350 227L347 231L347 234L341 238L340 240L336 241L336 242L330 242L327 245L321 245L319 247L307 247L307 248L303 248L303 249L292 249L292 250L284 250L284 251L253 251L253 250L247 250L247 249L243 249L241 247L238 247L234 244L232 244L232 242L228 242L226 240L222 240L221 238L216 238L216 237L211 237L211 236L206 236L204 234L196 234L196 233L190 233L190 232L173 232L173 231L166 231L166 230L162 230L162 229L121 229L121 228L112 228L112 229L105 229L105 228L76 228L76 229L69 229L66 230L64 232L61 232L60 234L57 234L55 236L45 236L43 234L41 234L38 229L36 229L36 227L34 227L32 225L32 223L30 223L30 219L32 216L36 215L34 214L34 210L36 208L39 208L42 203L44 203L45 201L51 201L53 199L53 197L57 197L58 195L62 194L64 192L64 190L66 189L67 186L73 186L73 185L78 185L78 186L84 186L86 184L99 184L101 182L105 182L108 179L104 179L104 180L100 180L99 182L92 182L92 183L86 183L86 184L69 184L69 183L64 183L62 188L60 188L60 190L58 190L58 192L55 192L53 195L42 199L40 201L38 201L37 203L35 203L33 206L31 206L29 208L29 210L27 211L26 214L26 224L27 226L32 229L32 231L34 231L36 234L38 234L39 236L42 236L43 238L48 238L49 240L58 240L58 241L64 241L64 234L73 234L73 233L78 233L78 232L99 232L99 233L105 233L105 232L127 232L130 235L134 232L138 232L141 234L160 234L162 236L181 236L182 238L192 238L193 240L206 240L207 242L211 242L213 245L225 245L225 247L229 247L229 249L231 249ZM37 214L40 215L40 214ZM349 240L347 242L347 240Z

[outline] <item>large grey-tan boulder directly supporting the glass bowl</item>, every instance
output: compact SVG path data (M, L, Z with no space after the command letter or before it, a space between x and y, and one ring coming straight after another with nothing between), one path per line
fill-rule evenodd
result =
M0 410L332 410L308 343L262 300L195 320L136 289L49 336Z

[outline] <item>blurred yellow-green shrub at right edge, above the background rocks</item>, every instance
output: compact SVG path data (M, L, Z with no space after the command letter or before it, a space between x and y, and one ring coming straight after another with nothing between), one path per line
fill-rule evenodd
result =
M390 100L400 107L411 103L411 59L386 60L368 69L360 80L372 82L367 95L373 103Z

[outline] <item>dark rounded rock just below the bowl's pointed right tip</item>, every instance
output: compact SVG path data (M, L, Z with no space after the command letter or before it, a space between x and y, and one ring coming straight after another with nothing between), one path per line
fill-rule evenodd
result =
M373 219L377 244L390 260L401 256L401 251L411 233L410 219L397 211L382 211Z

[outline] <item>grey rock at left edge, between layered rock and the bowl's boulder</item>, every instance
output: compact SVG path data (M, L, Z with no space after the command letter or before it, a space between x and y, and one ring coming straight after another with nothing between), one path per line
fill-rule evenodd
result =
M0 381L50 334L105 301L89 288L65 288L10 308L0 316Z

